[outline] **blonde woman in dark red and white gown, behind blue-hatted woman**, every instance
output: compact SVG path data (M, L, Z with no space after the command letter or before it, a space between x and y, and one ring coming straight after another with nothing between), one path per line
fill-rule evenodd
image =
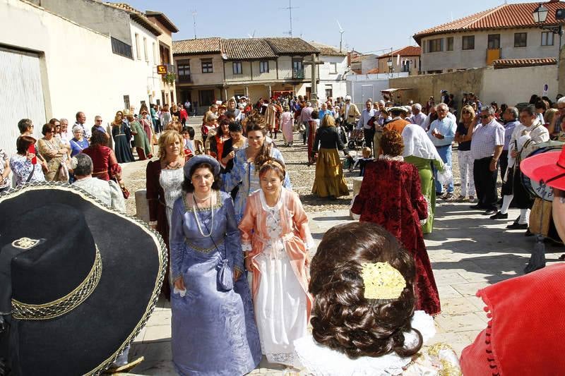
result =
M167 250L172 207L181 196L184 174L182 136L177 131L163 131L159 137L159 160L149 162L145 171L145 187L149 204L149 226L161 234ZM169 251L170 254L170 251ZM170 266L170 265L169 265ZM161 292L169 299L171 294L169 270Z

